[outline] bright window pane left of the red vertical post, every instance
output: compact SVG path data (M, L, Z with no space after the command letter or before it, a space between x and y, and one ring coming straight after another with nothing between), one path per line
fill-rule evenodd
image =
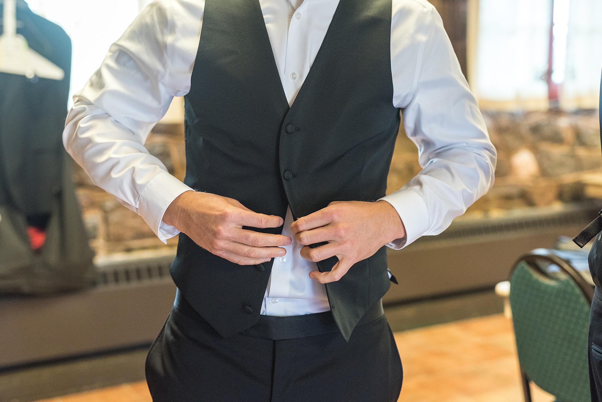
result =
M482 102L506 109L541 104L550 53L550 0L480 0L476 84Z

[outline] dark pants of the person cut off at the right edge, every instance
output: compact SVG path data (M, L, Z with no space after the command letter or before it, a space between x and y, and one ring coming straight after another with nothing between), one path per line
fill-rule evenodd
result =
M592 402L602 402L602 292L594 292L589 316L589 388Z

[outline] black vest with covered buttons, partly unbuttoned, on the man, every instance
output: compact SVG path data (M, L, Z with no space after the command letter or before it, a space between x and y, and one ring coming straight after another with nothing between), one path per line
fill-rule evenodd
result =
M185 183L282 218L287 206L299 218L331 201L384 196L400 123L390 38L391 0L340 0L289 108L259 1L206 0L185 97ZM236 265L181 234L171 271L194 309L229 336L258 320L272 263ZM384 247L326 284L345 339L388 289Z

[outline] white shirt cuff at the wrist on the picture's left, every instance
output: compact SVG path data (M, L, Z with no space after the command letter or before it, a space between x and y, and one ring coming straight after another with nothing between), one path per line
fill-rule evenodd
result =
M167 239L180 233L175 227L163 222L163 215L167 207L181 193L190 190L192 189L186 184L169 173L163 172L152 178L140 193L138 215L144 219L162 242L166 243Z

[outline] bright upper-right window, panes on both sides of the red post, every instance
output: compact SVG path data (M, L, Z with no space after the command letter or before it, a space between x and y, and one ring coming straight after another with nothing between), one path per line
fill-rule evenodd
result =
M597 107L602 2L480 0L478 19L471 83L482 108L547 110L548 78L563 109Z

